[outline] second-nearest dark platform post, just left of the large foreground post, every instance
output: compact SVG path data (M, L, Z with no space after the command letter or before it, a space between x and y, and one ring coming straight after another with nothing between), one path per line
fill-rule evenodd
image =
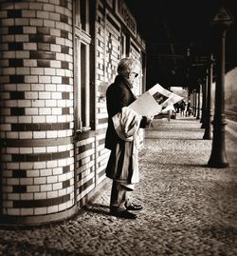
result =
M211 119L211 85L212 85L212 54L210 54L210 65L209 65L209 75L208 75L208 89L207 89L207 111L206 111L206 118L205 118L205 132L203 139L210 140L211 139L211 127L210 127L210 119Z

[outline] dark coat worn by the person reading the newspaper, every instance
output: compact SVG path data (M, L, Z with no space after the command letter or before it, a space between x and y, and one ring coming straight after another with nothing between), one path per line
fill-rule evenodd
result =
M108 128L105 135L105 148L111 149L110 159L106 167L106 176L121 182L129 182L132 174L133 142L121 140L113 125L112 117L128 107L136 100L136 96L123 77L117 76L115 82L106 91L106 103L108 111ZM140 128L145 128L146 117L140 122Z

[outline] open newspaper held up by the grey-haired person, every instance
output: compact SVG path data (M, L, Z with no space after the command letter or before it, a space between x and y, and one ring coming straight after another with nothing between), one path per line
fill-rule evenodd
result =
M174 110L173 104L181 101L183 97L156 84L144 92L135 102L129 105L140 115L154 116L168 110Z

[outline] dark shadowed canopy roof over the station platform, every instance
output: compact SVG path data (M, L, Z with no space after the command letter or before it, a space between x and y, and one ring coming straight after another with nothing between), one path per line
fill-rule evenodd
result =
M126 3L137 19L137 30L147 42L148 87L160 83L167 88L191 88L198 78L205 76L210 53L215 52L220 42L211 21L222 6L235 20L227 30L226 71L237 67L235 0L126 0ZM215 61L213 68L215 76Z

